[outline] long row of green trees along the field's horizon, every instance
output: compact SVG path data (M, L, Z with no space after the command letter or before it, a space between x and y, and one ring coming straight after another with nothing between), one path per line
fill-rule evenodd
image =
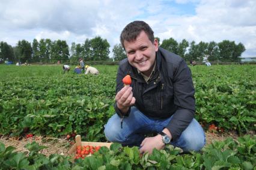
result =
M236 44L234 41L223 40L219 43L210 41L206 43L200 41L189 43L186 39L181 42L174 38L165 39L159 46L169 50L177 55L180 55L186 61L232 61L239 62L240 56L245 51L245 46L242 43ZM0 61L13 62L43 62L43 63L72 63L78 62L79 58L84 58L85 61L120 61L126 58L121 44L115 44L112 49L113 58L109 57L110 44L106 39L95 37L86 39L83 44L72 43L68 46L65 40L52 41L48 38L37 40L34 39L32 44L26 40L18 41L17 45L12 47L4 41L0 42Z

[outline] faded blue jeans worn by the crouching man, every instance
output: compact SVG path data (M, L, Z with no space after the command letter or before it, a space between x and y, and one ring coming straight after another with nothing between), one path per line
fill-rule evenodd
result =
M171 118L161 120L150 118L132 107L130 115L124 117L123 129L121 129L121 118L114 114L105 125L104 132L108 141L139 147L147 134L161 132ZM180 147L183 151L199 151L205 144L204 130L195 119L190 122L177 140L171 142L171 145Z

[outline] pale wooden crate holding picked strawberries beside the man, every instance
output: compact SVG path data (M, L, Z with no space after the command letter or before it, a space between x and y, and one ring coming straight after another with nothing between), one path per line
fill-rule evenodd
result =
M75 154L76 153L76 147L77 146L86 146L86 145L91 145L93 147L110 147L112 143L107 143L107 142L82 142L81 141L81 136L76 135L76 143L70 148L70 150L67 152L68 154Z

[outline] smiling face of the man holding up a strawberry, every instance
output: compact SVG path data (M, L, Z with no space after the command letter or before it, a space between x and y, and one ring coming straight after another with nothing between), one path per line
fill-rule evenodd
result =
M156 51L158 50L158 42L155 39L152 43L144 31L138 35L135 41L124 40L124 48L129 63L136 67L139 71L149 76L156 59Z

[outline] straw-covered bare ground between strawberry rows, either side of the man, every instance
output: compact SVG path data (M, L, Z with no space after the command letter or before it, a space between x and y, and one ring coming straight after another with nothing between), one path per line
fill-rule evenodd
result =
M213 141L224 141L227 138L237 139L237 135L235 133L213 133L206 132L206 144L212 144ZM33 136L32 138L17 138L10 136L1 136L0 142L5 144L5 147L13 146L16 148L18 152L28 152L25 148L25 145L31 142L37 142L39 145L47 146L41 150L41 154L46 156L50 156L50 154L58 153L64 156L67 156L67 152L72 147L72 143L74 143L73 139L67 140L67 138L48 138L43 136Z

